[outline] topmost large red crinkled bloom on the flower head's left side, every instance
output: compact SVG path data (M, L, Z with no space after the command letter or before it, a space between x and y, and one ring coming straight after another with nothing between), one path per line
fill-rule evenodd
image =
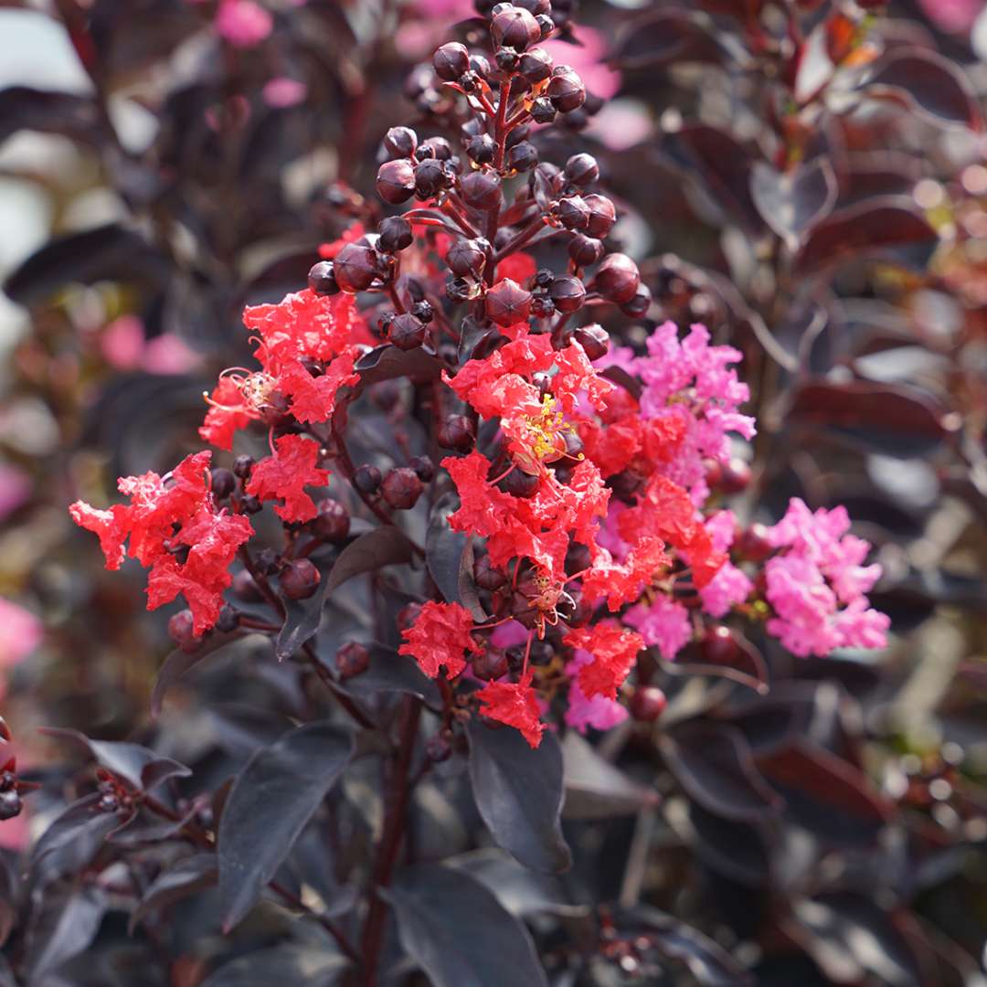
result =
M244 325L260 337L257 356L272 377L297 357L331 360L353 343L373 342L352 295L343 292L317 295L306 288L276 305L250 306Z

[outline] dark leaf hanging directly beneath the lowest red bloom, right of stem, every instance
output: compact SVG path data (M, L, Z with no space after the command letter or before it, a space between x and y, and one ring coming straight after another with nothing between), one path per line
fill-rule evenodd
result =
M512 729L470 721L473 797L497 846L534 871L560 872L572 863L562 835L562 750L546 732L532 750Z

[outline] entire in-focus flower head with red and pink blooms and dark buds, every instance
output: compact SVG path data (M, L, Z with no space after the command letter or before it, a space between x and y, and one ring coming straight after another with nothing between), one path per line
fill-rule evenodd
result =
M228 470L200 452L167 477L121 480L129 503L72 507L111 568L129 554L150 569L150 607L185 597L172 631L194 648L213 628L278 633L283 600L318 588L310 556L353 537L353 511L410 538L401 512L454 493L448 525L471 536L471 592L444 597L412 542L419 602L399 616L393 660L451 680L459 719L509 724L532 746L560 719L615 725L622 698L657 719L660 690L644 671L628 682L641 652L670 661L701 645L728 664L728 617L764 622L799 655L881 646L887 630L866 596L879 569L845 510L796 500L773 527L740 528L714 506L743 484L734 436L754 434L740 353L671 323L634 348L585 317L610 305L645 319L651 298L635 262L608 251L618 210L596 161L539 160L546 128L586 100L538 47L550 15L548 0L498 4L492 51L443 44L433 79L453 94L458 147L388 131L377 191L394 213L325 245L306 290L246 310L258 368L220 377L200 431L231 451L256 422L269 455ZM347 420L367 407L394 428L388 462L350 456ZM412 417L429 436L418 455ZM333 496L313 496L331 483ZM284 525L278 549L252 544L267 504ZM268 618L238 609L245 600ZM336 672L368 662L346 645Z

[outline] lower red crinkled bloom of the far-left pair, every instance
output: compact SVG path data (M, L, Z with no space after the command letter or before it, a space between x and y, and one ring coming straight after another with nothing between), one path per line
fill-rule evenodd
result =
M207 631L216 623L223 590L232 581L230 564L253 534L246 517L202 507L176 536L176 541L190 547L185 564L180 566L174 556L164 556L151 569L147 609L170 603L182 593L191 610L192 630L196 635Z

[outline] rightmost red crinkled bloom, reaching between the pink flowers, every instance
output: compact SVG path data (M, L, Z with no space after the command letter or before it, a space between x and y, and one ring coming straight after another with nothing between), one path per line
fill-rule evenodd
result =
M660 475L650 478L637 506L621 513L617 529L632 545L657 535L684 553L699 589L709 585L726 561L726 556L714 548L689 493Z

